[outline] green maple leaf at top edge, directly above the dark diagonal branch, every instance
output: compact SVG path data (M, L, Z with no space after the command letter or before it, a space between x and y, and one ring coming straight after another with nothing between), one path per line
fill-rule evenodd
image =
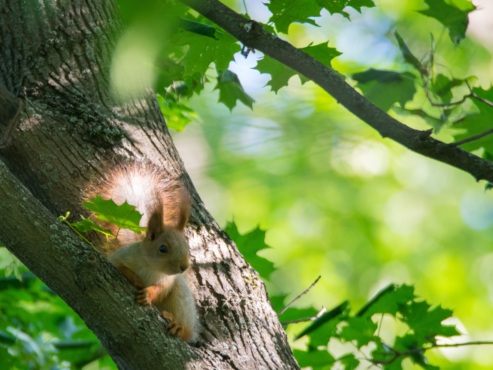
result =
M317 26L309 17L319 17L322 10L317 0L271 0L266 5L272 13L268 23L274 22L277 32L286 35L289 25L293 22Z

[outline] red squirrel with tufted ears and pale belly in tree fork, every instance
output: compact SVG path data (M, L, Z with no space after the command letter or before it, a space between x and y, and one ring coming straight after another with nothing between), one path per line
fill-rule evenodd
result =
M154 305L172 335L196 342L200 324L183 276L190 258L184 235L191 208L188 190L163 175L157 166L132 164L117 165L107 172L105 180L90 185L86 196L94 195L111 198L118 205L126 200L143 214L140 225L147 226L145 235L121 229L114 243L118 249L108 260L137 289L137 303ZM103 226L115 227L106 222Z

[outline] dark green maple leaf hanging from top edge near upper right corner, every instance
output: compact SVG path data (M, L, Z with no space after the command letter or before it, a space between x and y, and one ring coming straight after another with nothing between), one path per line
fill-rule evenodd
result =
M468 14L476 9L472 3L465 10L459 9L455 4L448 4L444 0L424 0L429 6L426 10L420 10L421 14L435 18L449 29L450 39L458 45L465 37L465 31L469 24Z

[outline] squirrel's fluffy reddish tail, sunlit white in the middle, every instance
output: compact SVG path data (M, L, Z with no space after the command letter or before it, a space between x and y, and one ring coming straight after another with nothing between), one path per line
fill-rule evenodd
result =
M86 186L84 200L94 198L96 195L100 195L105 200L113 199L117 205L123 204L126 200L143 214L140 226L146 227L153 213L161 214L165 223L171 222L176 217L176 213L180 212L178 204L180 193L186 192L182 185L180 190L180 185L154 164L138 162L117 164L106 171L105 179ZM188 192L186 194L188 195ZM118 228L115 225L97 220L94 215L92 219L116 235ZM122 246L138 242L141 237L142 235L133 231L120 229L118 239L111 241L107 252L111 253ZM101 244L102 246L106 244L106 240Z

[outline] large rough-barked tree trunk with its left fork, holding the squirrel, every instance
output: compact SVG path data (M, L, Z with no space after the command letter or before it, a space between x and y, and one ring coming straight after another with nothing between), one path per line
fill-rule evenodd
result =
M111 56L124 31L114 0L0 0L0 240L119 369L299 369L258 274L191 184L154 93L112 97ZM151 161L191 190L197 347L171 338L157 311L136 305L116 269L56 220L86 214L81 188L115 157Z

